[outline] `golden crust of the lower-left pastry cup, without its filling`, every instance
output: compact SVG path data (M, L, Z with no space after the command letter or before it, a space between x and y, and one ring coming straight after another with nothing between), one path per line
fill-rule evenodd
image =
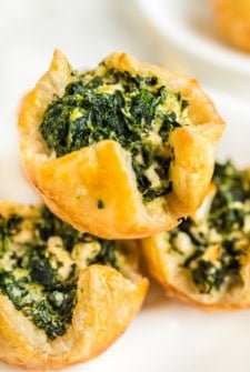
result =
M0 203L1 215L12 213L29 220L40 215L40 207ZM32 371L48 371L88 361L114 342L139 311L148 288L148 280L138 271L133 242L124 242L123 248L131 254L131 264L123 268L126 275L103 264L80 268L71 324L54 340L1 292L0 360Z

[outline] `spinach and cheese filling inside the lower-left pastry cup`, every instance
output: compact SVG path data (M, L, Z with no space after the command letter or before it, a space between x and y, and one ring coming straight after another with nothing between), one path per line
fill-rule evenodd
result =
M51 250L51 239L59 237ZM120 269L114 241L80 233L44 207L34 218L0 215L0 292L50 340L64 334L71 323L78 281L73 253L79 243L99 244L86 265Z

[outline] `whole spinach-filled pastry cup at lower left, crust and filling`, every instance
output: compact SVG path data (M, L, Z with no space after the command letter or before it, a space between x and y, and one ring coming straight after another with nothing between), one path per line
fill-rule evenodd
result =
M43 205L0 203L0 360L60 369L104 351L144 299L132 241L80 233Z

